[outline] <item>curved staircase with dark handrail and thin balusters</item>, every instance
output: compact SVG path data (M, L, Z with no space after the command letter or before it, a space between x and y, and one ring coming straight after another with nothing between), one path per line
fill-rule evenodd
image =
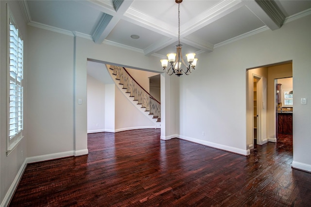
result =
M141 108L145 108L145 111L148 111L149 115L156 119L156 122L161 122L160 102L143 89L124 67L110 65L109 68L112 70L112 75L115 76L115 79L119 80L119 84L126 90L125 93L133 97L133 101L137 101Z

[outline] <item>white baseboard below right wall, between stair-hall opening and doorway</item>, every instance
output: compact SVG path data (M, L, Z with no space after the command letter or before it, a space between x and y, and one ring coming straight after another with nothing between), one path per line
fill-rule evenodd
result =
M178 138L179 139L183 139L183 140L187 140L187 141L190 141L190 142L193 142L193 143L199 143L199 144L203 144L205 146L210 146L210 147L221 149L221 150L225 150L225 151L228 151L228 152L244 155L244 156L250 155L250 150L247 150L247 149L240 149L240 148L236 148L236 147L227 146L227 145L224 145L224 144L207 142L207 141L204 141L204 140L198 140L198 139L191 138L191 137L186 137L186 136L179 136Z

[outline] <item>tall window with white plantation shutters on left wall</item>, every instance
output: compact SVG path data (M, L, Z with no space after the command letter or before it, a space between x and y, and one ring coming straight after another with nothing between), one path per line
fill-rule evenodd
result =
M22 139L23 130L23 40L8 9L8 140L9 153Z

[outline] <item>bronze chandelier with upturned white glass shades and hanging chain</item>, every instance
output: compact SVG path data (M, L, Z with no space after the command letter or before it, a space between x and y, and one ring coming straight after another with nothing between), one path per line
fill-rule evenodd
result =
M167 57L168 59L162 59L160 60L161 61L161 64L162 64L162 67L163 67L163 70L166 71L167 74L169 74L170 76L173 75L173 73L176 75L176 76L181 76L183 75L183 72L186 74L186 75L189 75L191 72L192 72L192 69L195 69L195 65L196 65L196 62L197 62L197 58L194 58L195 57L195 53L188 53L186 54L186 57L187 57L187 61L189 63L189 66L188 64L185 63L184 59L183 59L183 56L182 56L182 53L181 53L181 44L180 44L180 17L179 17L179 5L180 3L182 2L183 0L175 0L176 3L178 3L178 45L176 45L176 53L169 53L167 54ZM177 54L177 55L176 55ZM184 69L181 69L181 62L186 66L187 70L185 71ZM169 69L167 69L167 66L168 66L168 63L170 62L170 67ZM170 72L170 70L172 70Z

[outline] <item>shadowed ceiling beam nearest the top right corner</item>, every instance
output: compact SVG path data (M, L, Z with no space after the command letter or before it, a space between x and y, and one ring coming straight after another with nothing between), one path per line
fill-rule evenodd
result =
M243 0L245 6L271 30L281 28L285 15L273 0Z

